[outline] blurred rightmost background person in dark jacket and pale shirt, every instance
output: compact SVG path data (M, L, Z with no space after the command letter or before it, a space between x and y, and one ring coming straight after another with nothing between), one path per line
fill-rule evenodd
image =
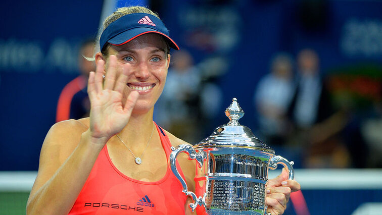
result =
M289 143L301 147L307 168L349 167L349 150L340 135L346 115L333 111L319 63L313 49L297 55L297 87L289 110L294 132Z

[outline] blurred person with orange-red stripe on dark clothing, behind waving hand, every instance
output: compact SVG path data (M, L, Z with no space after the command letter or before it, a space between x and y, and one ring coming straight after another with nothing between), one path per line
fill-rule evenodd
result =
M80 119L89 116L90 102L87 96L87 79L90 71L95 71L95 63L88 61L94 54L94 39L85 40L79 49L78 69L80 75L70 81L61 91L56 122Z

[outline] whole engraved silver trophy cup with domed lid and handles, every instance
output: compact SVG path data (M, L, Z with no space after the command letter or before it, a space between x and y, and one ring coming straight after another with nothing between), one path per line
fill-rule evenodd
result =
M232 99L225 115L230 120L228 124L216 128L199 144L171 148L171 170L182 184L185 195L193 198L193 203L189 204L192 211L200 205L209 214L264 215L268 169L274 170L281 164L289 172L289 179L293 179L293 162L276 156L251 129L237 122L244 112L236 98ZM176 169L176 157L181 152L197 160L195 193L188 191Z

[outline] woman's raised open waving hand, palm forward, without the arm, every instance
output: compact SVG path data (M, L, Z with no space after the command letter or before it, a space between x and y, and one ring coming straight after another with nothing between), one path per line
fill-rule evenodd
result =
M92 138L99 138L106 143L127 125L139 93L132 91L126 99L123 98L128 71L118 68L115 56L109 57L105 80L102 77L105 61L99 60L96 63L97 69L95 73L90 72L87 85L90 132Z

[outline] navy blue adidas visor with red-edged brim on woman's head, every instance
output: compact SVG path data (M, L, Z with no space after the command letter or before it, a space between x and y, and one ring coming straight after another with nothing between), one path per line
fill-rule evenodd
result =
M179 50L179 46L170 38L163 22L157 17L145 13L128 14L112 22L101 34L100 47L103 50L107 43L123 45L147 33L161 34L170 47Z

